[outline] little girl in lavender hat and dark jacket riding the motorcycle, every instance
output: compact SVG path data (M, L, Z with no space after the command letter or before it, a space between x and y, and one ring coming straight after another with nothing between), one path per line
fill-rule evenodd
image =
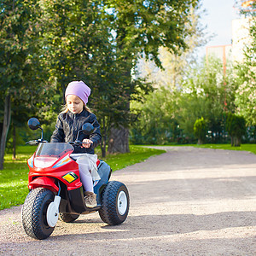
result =
M83 144L82 147L74 145L71 156L79 164L80 178L85 190L85 205L86 207L96 207L96 194L93 192L92 179L98 180L100 177L96 171L97 157L94 154L94 148L101 143L102 135L96 115L91 113L86 106L89 96L90 88L83 81L73 81L67 85L66 106L58 116L50 142L74 142L84 123L90 123L94 126L95 131L90 136L84 135L83 132L79 133L79 141L86 144Z

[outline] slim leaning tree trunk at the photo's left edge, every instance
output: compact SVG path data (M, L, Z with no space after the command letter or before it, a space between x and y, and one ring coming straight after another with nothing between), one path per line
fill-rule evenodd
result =
M3 170L3 157L6 146L6 139L9 131L9 124L11 119L11 102L10 95L5 96L4 100L4 115L3 115L3 130L0 144L0 170Z

